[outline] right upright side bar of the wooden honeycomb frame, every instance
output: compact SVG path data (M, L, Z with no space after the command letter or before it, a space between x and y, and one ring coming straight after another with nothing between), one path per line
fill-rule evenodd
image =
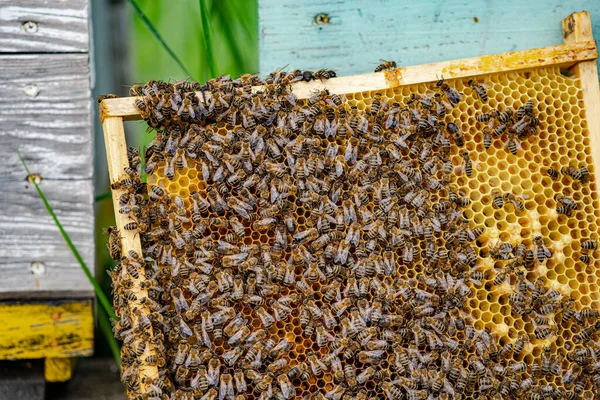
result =
M563 20L563 36L565 43L580 43L591 40L592 24L588 12L573 13ZM578 63L574 72L581 80L583 89L583 104L585 120L590 132L590 149L592 160L596 166L594 178L597 190L600 190L600 86L598 84L598 69L593 61Z

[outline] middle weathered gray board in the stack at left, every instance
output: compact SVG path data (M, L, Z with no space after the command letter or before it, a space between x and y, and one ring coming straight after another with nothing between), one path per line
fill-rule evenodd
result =
M0 174L91 179L90 69L85 54L0 56Z

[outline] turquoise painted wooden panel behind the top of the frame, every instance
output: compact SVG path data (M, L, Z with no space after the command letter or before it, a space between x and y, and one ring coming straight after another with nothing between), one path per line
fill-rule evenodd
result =
M582 10L598 40L600 0L259 0L260 71L351 75L382 58L416 65L557 45L561 20Z

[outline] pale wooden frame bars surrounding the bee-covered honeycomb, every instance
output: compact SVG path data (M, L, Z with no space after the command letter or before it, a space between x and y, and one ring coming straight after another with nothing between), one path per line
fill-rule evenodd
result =
M337 94L385 90L403 85L433 82L441 75L447 79L455 79L557 65L565 69L572 68L582 82L592 158L594 164L600 163L600 86L595 62L598 50L592 37L589 13L585 11L573 13L565 18L563 36L565 44L559 46L402 67L384 73L340 77L324 82L300 82L293 85L293 91L299 98L306 98L314 90L328 89ZM260 87L254 89L261 90ZM135 97L125 97L106 99L100 103L100 118L104 129L111 182L118 180L123 169L129 166L123 121L141 119L134 102ZM600 188L600 174L595 173L594 176L596 185ZM118 199L121 194L120 190L113 191L115 210L119 208ZM128 222L127 218L118 212L115 212L115 217L121 232L123 252L135 250L141 253L139 237L132 231L123 229ZM139 287L142 279L140 274L140 278L135 281L134 291L138 298L147 295L146 291ZM132 303L131 307L148 311L138 303ZM140 362L140 376L151 378L158 376L155 366L148 365L142 359Z

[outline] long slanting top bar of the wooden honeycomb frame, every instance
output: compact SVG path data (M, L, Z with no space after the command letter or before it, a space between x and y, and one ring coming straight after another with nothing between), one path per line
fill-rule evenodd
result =
M299 98L307 98L315 90L321 89L328 89L331 93L337 94L384 90L401 85L433 82L439 79L441 75L446 79L464 78L497 71L513 71L548 65L568 66L575 61L595 60L597 57L596 43L588 41L427 65L415 65L383 73L344 76L323 82L299 82L293 85L293 91ZM255 88L255 90L260 90L260 88ZM134 101L134 97L104 100L100 105L101 118L139 119Z

